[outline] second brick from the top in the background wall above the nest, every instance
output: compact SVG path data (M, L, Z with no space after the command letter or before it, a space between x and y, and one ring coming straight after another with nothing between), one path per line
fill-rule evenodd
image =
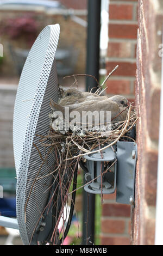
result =
M110 23L109 38L136 39L137 25Z

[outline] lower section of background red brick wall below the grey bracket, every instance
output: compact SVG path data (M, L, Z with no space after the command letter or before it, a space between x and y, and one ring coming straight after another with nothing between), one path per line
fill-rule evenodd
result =
M104 194L101 245L130 244L130 205L115 202L116 194Z

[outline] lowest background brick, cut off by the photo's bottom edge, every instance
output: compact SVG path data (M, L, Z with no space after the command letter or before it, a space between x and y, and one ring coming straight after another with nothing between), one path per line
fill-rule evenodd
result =
M101 237L101 245L130 245L129 237Z

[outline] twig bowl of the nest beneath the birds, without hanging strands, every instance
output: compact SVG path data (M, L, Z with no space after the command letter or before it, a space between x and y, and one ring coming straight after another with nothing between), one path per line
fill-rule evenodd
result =
M129 136L129 131L133 128L138 118L136 118L136 113L132 109L134 107L130 105L126 120L113 121L111 123L111 131L104 132L98 129L97 131L85 130L83 133L83 131L69 130L66 134L62 134L60 131L54 131L51 127L48 135L41 139L42 145L44 147L58 148L59 154L65 155L64 161L69 161L96 153L96 150L93 149L98 147L97 152L102 151L111 147L120 139L134 141L134 138ZM103 147L104 143L108 145Z

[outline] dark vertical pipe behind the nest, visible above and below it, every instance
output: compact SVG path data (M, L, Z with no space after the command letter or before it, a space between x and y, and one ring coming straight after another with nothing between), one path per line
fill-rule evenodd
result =
M88 0L86 74L99 80L99 39L101 26L101 0ZM86 91L96 87L93 78L86 77ZM95 89L96 90L96 89ZM93 90L92 90L93 92ZM83 245L95 243L95 194L83 190Z

